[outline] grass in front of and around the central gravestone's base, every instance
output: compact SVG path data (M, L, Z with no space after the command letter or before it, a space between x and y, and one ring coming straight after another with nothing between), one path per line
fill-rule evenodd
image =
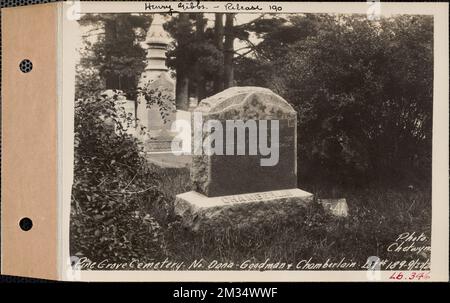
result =
M387 247L402 233L421 233L431 245L431 189L365 188L342 191L349 206L347 218L332 217L316 203L299 208L296 213L270 218L258 225L239 230L233 226L200 229L184 228L173 216L175 195L190 190L188 168L153 168L159 176L160 189L169 201L168 216L159 218L164 234L163 250L171 260L192 263L203 258L205 262L356 262L361 267L369 256L389 261L425 261L429 252L417 254L389 252ZM301 185L301 189L304 188ZM153 210L149 210L154 212ZM345 269L345 268L342 268ZM352 268L348 268L352 269ZM354 270L354 269L353 269Z

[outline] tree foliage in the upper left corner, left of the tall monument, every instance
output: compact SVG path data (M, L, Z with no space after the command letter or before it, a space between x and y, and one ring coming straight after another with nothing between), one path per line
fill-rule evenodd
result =
M123 90L134 99L145 67L145 50L139 42L150 22L151 17L143 14L84 15L80 24L89 30L83 37L81 70L94 69L103 88Z

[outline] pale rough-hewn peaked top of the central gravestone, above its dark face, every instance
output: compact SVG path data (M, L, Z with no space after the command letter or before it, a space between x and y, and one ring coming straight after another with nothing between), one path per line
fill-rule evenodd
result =
M270 120L296 115L282 97L270 89L254 86L228 88L202 100L195 111L219 120Z

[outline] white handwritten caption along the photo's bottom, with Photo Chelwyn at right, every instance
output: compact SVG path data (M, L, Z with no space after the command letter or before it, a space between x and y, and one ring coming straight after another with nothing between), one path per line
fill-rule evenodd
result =
M74 270L367 270L368 279L380 279L381 271L393 271L387 279L393 281L422 281L431 278L430 238L423 232L404 232L385 246L387 258L368 257L367 261L346 257L318 260L313 257L286 262L266 258L263 261L248 259L240 262L196 259L191 262L168 258L151 262L133 259L129 262L112 262L108 259L93 262L86 257L77 258ZM369 277L370 276L370 277ZM372 277L374 276L374 277Z

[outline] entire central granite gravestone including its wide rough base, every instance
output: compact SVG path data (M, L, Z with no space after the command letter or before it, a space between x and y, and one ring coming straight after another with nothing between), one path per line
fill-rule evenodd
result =
M192 116L194 190L175 199L175 213L187 225L196 229L205 220L219 222L223 218L236 224L257 222L274 214L289 214L312 200L312 194L297 188L296 112L286 100L265 88L233 87L203 100ZM216 127L205 127L211 121ZM240 130L244 140L237 139L239 130L227 127L236 121L248 122L248 129ZM199 123L200 127L196 125ZM250 129L256 129L253 137ZM222 153L216 142L211 146L219 153L205 153L202 149L213 132L216 139L224 139ZM201 144L196 144L199 136ZM257 153L252 154L255 136ZM227 140L230 137L233 140ZM272 154L265 153L262 147L270 147Z

